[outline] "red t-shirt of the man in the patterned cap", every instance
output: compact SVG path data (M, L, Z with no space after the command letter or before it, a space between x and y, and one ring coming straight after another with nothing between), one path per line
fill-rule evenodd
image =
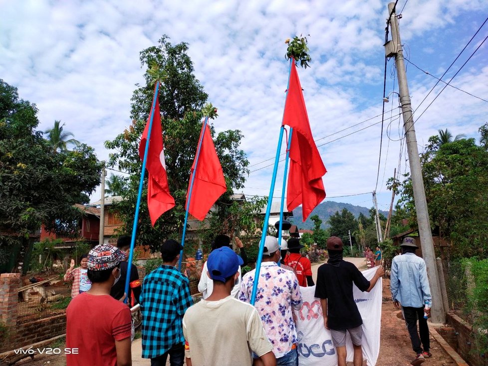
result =
M110 295L76 296L66 309L66 348L78 354L66 355L66 365L117 365L115 341L131 336L131 323L128 306Z

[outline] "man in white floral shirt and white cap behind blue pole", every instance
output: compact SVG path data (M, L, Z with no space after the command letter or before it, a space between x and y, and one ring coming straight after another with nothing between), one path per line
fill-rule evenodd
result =
M281 255L278 240L266 236L255 308L266 335L273 345L277 366L298 366L297 336L292 307L300 309L302 297L295 274L278 267ZM239 299L250 302L255 270L247 272L241 284Z

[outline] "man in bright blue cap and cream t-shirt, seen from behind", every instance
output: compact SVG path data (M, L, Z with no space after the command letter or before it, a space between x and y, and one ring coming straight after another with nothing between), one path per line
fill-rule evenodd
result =
M242 258L229 247L210 253L207 268L214 284L212 294L183 317L187 366L250 366L249 350L264 366L276 365L273 346L256 309L231 295L242 264Z

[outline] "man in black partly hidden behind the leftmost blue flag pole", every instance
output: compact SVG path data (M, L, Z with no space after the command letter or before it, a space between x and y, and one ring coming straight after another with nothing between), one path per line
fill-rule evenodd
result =
M117 248L123 251L127 257L129 257L131 237L129 235L120 236L117 239ZM110 296L119 300L124 296L125 292L125 280L127 277L127 267L129 263L127 260L120 262L120 279L112 286L110 290ZM132 294L134 295L134 301L132 302ZM137 267L131 264L130 281L129 281L129 293L127 294L128 303L130 306L139 304L139 296L141 295L141 281L139 280L139 274L137 273Z

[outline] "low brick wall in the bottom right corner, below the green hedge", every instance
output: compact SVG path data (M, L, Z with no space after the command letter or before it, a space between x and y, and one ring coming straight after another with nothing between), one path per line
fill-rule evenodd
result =
M458 354L472 366L488 366L488 355L482 357L476 350L472 327L454 313L447 314L447 322L456 332Z

